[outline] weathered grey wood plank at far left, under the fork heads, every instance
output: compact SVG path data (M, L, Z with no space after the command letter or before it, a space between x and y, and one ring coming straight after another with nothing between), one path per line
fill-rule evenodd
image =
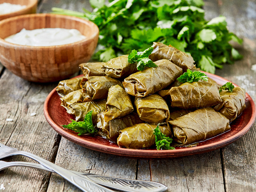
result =
M5 70L0 84L0 142L53 161L60 137L45 120L43 106L56 83L30 83ZM30 116L33 112L36 115ZM4 160L31 161L23 156ZM49 177L49 173L36 169L12 167L0 172L0 184L7 192L46 191Z

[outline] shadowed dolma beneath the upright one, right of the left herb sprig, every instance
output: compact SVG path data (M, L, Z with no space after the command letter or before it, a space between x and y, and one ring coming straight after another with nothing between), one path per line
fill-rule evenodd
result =
M104 113L99 113L97 127L105 133L105 136L108 139L116 142L119 136L119 131L138 123L143 123L143 121L140 120L137 113L132 112L124 117L118 117L108 122L105 121Z

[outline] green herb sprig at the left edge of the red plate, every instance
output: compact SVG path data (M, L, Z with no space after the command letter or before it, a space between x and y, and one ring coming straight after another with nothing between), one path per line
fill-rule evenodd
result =
M95 129L93 127L93 121L91 118L91 114L93 113L93 111L90 111L86 114L86 116L84 117L83 121L74 121L71 119L71 123L69 123L68 125L61 125L62 127L66 128L66 129L70 129L72 131L78 132L78 135L83 135L86 133L97 133L97 129Z

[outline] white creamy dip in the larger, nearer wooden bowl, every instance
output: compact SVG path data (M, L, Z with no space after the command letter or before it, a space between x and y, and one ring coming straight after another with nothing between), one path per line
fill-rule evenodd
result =
M13 44L28 46L55 46L81 41L86 37L76 29L45 28L26 30L5 38Z

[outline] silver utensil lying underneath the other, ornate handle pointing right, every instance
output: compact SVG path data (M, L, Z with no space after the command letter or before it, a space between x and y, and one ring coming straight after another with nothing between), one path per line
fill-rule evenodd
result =
M12 166L32 167L32 168L37 168L37 169L53 172L52 170L42 166L41 164L37 164L37 163L22 162L22 161L21 162L19 162L19 161L14 161L14 162L0 161L0 170L3 170L8 167L12 167ZM98 183L105 187L109 187L109 188L116 189L119 191L162 192L167 189L167 187L165 185L160 184L158 182L153 182L153 181L142 181L142 180L135 180L135 179L102 176L102 175L97 175L97 174L82 173L82 172L76 172L76 171L71 171L71 172L78 174L81 177L89 178L92 181L94 181L95 183Z

